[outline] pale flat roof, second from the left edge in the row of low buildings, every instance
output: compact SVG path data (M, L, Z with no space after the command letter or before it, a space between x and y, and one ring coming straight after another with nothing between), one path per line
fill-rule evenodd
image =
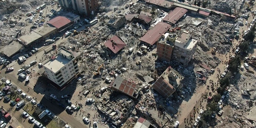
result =
M26 45L32 43L33 41L41 38L42 36L34 31L31 31L31 33L25 34L23 36L20 36L20 40L23 41Z

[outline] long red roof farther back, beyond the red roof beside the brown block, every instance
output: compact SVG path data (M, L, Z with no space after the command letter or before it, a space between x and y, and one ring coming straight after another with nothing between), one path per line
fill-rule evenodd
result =
M163 18L163 21L175 24L186 12L188 12L187 9L176 7L174 10L170 11L167 16Z

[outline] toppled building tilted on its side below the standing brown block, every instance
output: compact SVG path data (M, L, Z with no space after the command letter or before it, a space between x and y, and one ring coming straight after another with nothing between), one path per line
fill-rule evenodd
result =
M152 88L161 94L164 98L170 97L184 79L184 76L169 66L163 74L152 85Z

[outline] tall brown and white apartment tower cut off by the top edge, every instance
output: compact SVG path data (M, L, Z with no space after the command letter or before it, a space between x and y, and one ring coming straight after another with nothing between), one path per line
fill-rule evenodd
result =
M61 7L70 9L73 12L91 16L96 14L99 7L99 0L58 0Z

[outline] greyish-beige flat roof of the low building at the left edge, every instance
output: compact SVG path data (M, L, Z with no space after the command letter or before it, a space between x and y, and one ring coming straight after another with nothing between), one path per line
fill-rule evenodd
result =
M19 52L22 46L23 46L22 44L13 40L8 45L5 45L4 47L2 47L1 52L3 54L5 54L6 56L10 57L10 56L14 55L16 52Z

